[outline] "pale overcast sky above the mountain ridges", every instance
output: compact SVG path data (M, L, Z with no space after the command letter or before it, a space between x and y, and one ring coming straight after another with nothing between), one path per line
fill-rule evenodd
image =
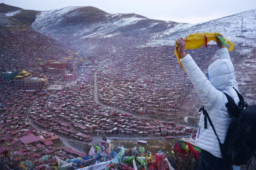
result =
M150 19L191 24L256 9L256 0L2 0L2 2L37 11L49 11L67 6L93 6L111 14L134 12Z

